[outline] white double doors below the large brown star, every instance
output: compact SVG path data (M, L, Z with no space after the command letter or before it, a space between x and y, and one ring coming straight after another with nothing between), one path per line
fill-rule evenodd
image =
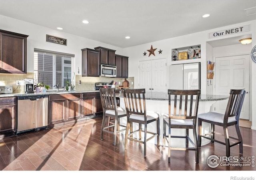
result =
M166 59L139 62L139 88L146 92L166 91Z

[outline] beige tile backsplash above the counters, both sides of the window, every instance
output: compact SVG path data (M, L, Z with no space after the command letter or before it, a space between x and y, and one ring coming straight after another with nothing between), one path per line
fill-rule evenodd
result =
M22 87L16 85L17 80L24 80L25 78L34 78L34 73L27 74L0 74L0 86L12 86L13 93L20 93ZM108 78L108 77L82 77L82 75L76 75L76 90L94 90L95 82L117 82L116 87L122 86L124 78ZM134 77L128 77L126 80L129 81L130 88L134 88ZM81 84L79 84L81 81ZM120 84L119 84L120 82ZM132 83L133 82L133 83Z

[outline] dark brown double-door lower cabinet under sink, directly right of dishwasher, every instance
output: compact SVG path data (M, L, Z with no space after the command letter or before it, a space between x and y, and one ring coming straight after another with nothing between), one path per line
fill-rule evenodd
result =
M49 95L49 121L56 124L81 118L81 94Z

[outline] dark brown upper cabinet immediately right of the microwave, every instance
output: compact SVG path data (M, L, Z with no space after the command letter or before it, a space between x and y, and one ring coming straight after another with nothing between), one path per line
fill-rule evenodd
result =
M128 78L128 57L116 54L116 77Z

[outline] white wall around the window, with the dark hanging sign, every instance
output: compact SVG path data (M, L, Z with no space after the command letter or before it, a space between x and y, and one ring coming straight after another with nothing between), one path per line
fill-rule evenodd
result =
M116 54L123 55L123 49L105 44L102 42L82 38L73 34L62 32L61 30L54 30L44 26L24 22L0 15L0 29L28 35L27 38L27 72L34 70L34 48L51 50L56 52L64 52L74 54L75 66L72 71L78 74L78 67L82 72L82 51L84 48L94 49L102 46L105 48L116 50ZM67 39L67 46L46 42L46 34Z

